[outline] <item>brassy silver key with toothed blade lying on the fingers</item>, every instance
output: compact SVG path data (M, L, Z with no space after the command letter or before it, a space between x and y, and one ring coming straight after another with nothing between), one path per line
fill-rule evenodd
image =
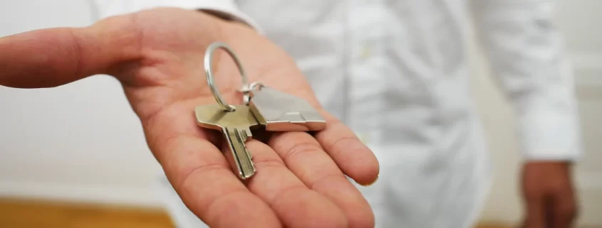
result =
M234 111L227 112L219 104L209 104L196 107L194 113L199 126L222 131L232 153L230 162L237 166L239 178L245 180L251 178L256 170L251 161L251 153L246 150L244 143L252 136L251 128L260 125L249 111L249 107L245 105L233 105L232 107L234 107ZM229 156L226 157L229 158Z

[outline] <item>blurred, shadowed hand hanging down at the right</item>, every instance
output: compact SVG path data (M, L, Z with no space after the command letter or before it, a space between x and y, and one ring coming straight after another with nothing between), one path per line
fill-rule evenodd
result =
M566 162L526 163L522 173L526 202L524 228L569 228L577 215L577 199Z

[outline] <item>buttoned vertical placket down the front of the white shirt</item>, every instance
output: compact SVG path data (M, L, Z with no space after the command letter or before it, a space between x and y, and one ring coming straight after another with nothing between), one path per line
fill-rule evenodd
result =
M364 143L380 141L387 9L382 0L351 1L348 15L347 124Z

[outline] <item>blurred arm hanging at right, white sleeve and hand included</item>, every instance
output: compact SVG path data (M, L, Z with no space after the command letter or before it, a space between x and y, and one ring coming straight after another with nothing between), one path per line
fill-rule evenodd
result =
M472 9L494 75L518 117L527 223L571 222L576 203L570 166L581 156L581 136L573 72L553 23L554 2L477 0ZM546 194L554 196L553 207L544 205Z

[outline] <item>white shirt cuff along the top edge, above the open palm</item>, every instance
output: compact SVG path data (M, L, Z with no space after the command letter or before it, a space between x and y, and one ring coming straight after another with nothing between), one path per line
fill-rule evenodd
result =
M155 7L178 7L218 12L234 21L246 23L259 33L261 27L246 13L239 10L234 0L92 0L99 18L133 13Z

